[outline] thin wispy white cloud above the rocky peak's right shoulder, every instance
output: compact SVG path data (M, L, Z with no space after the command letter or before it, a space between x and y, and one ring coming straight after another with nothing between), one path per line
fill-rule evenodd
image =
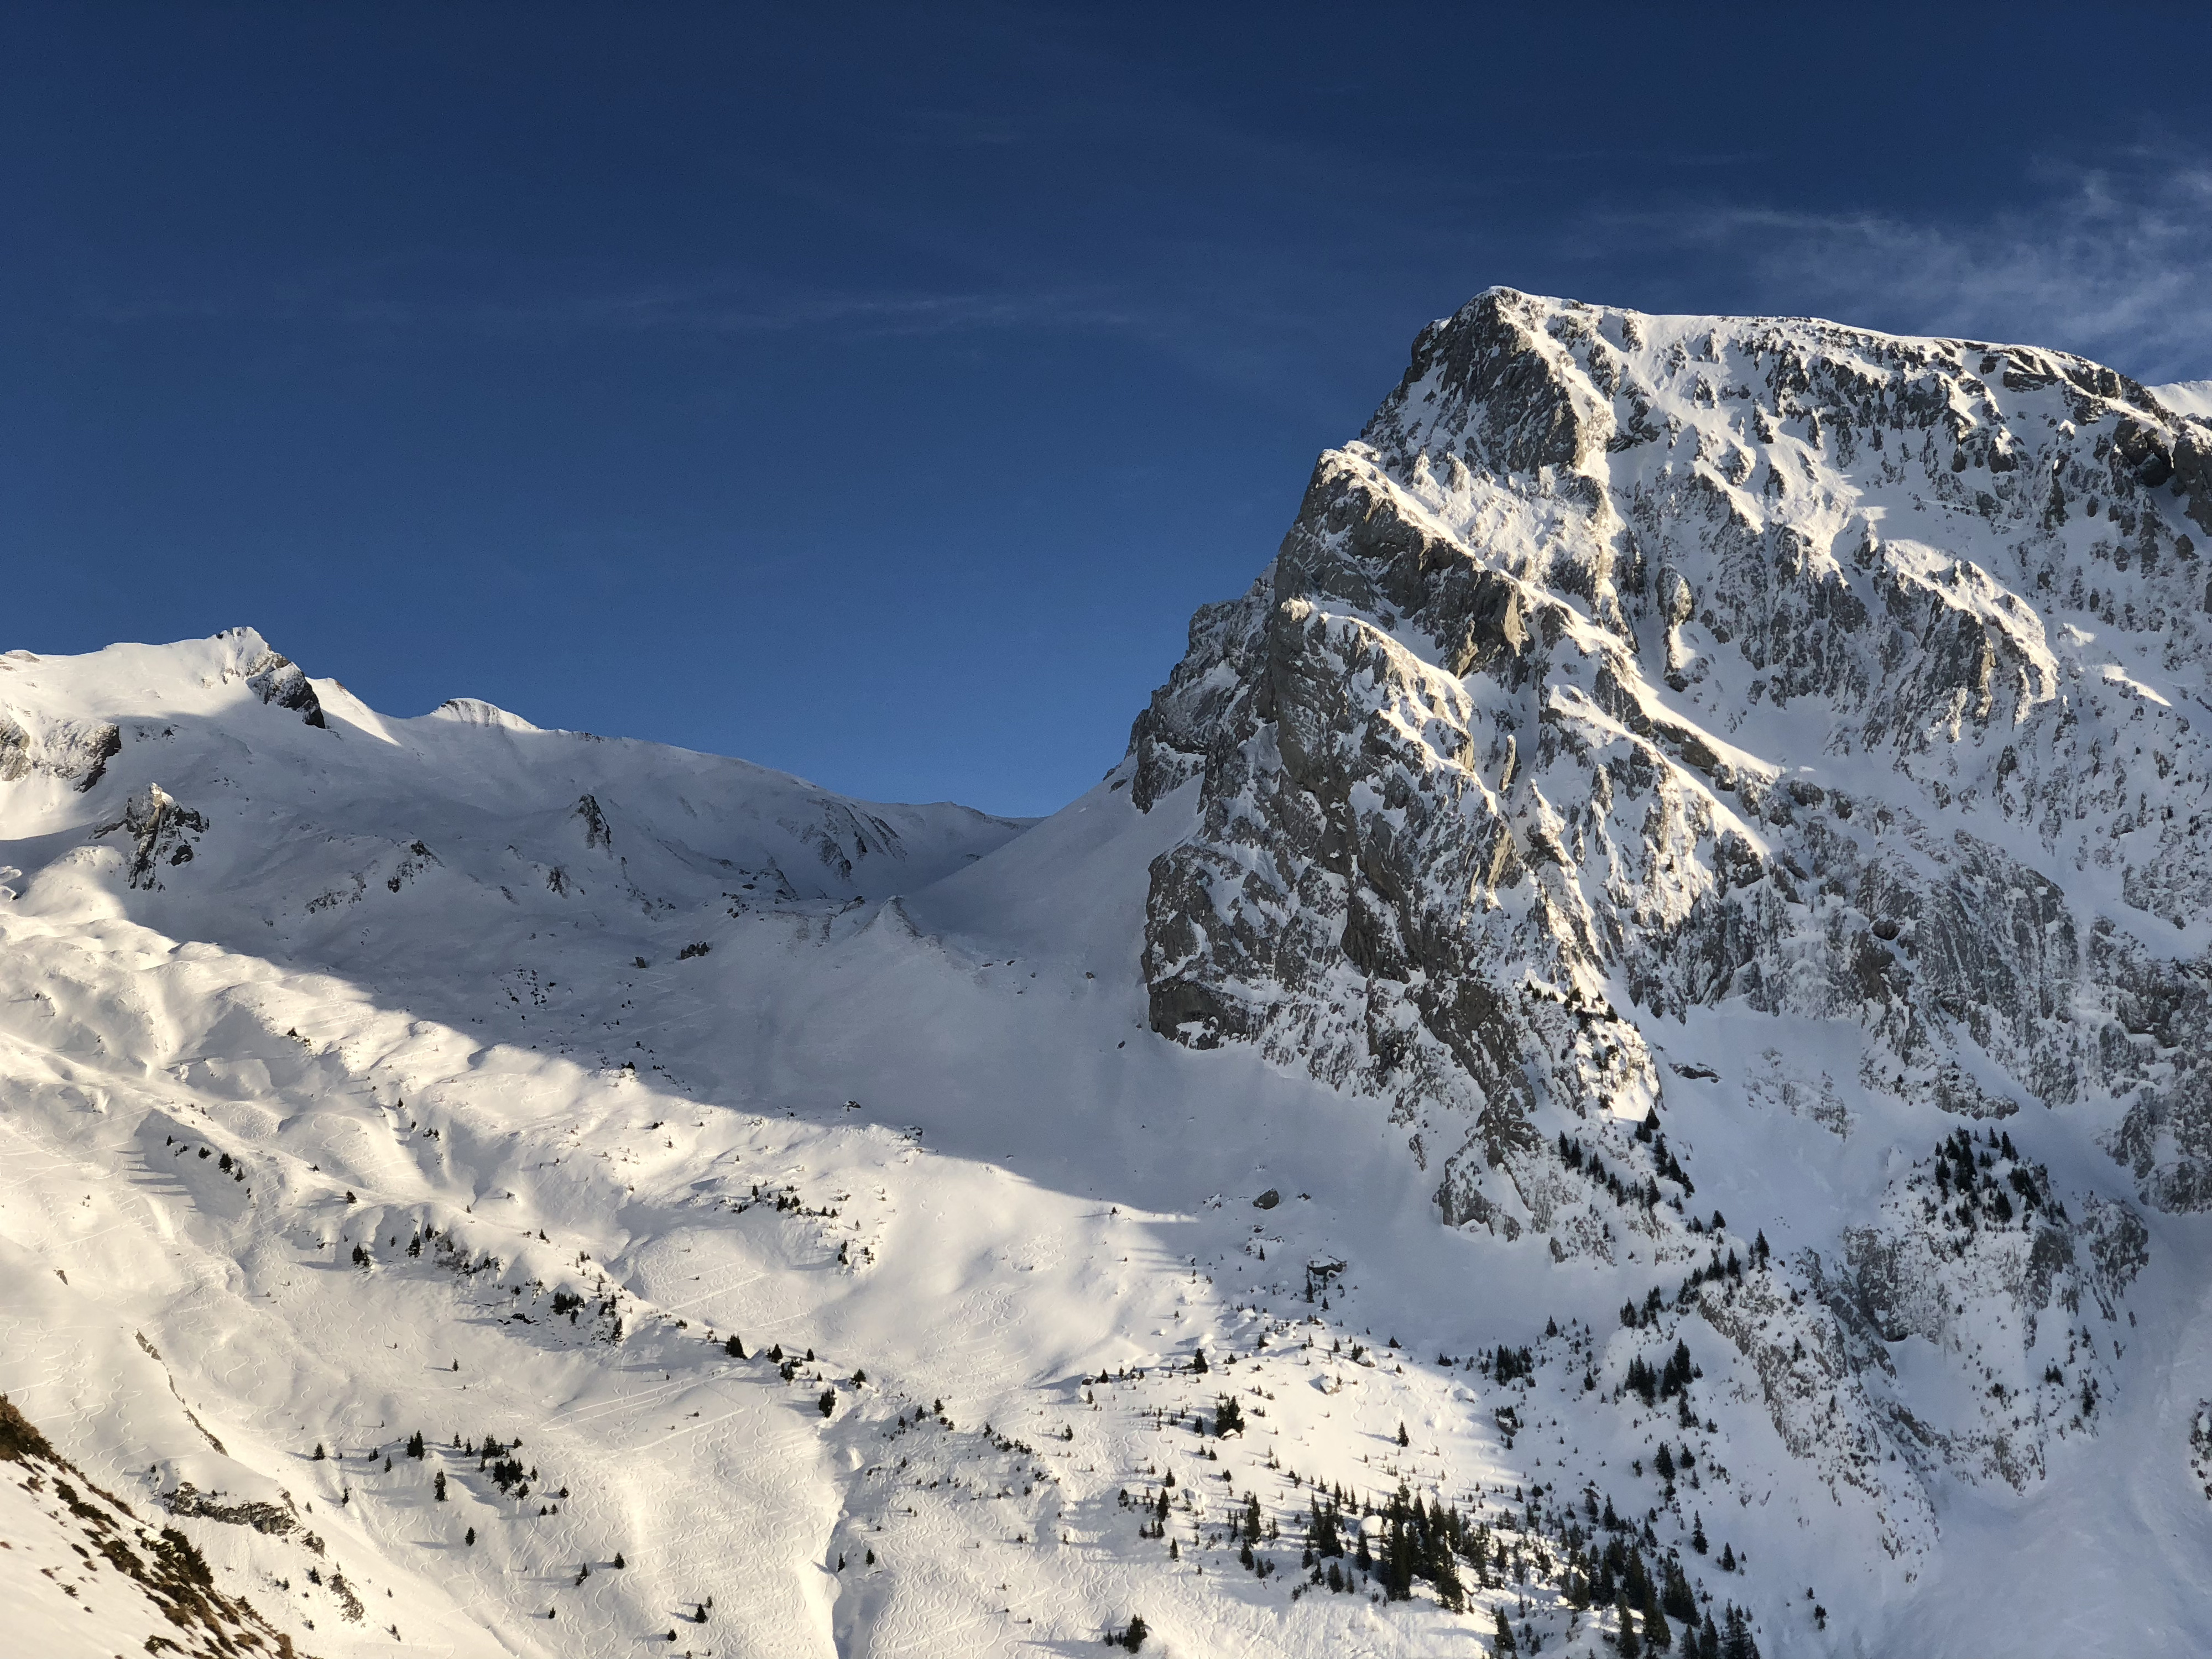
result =
M1610 228L1732 257L1790 310L2055 345L2152 383L2212 374L2212 164L2135 155L2039 177L2042 201L1978 219L1730 206Z

